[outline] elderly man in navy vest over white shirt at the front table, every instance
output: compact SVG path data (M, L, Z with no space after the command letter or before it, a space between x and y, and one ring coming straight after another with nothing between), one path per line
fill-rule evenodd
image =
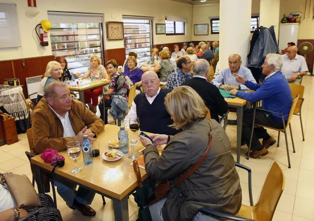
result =
M124 119L124 125L128 127L129 122L136 122L138 117L142 131L167 135L178 133L180 130L168 126L173 124L173 120L164 104L165 97L171 90L161 89L158 76L151 70L142 75L142 87L145 93L134 98L130 111Z

